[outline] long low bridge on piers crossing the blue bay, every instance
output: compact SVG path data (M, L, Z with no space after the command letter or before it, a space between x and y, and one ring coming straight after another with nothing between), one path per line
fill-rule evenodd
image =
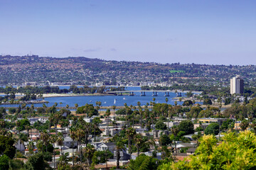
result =
M123 94L129 94L129 96L134 96L134 93L140 93L140 96L146 96L146 93L152 93L152 96L158 96L158 93L164 93L164 96L170 96L169 93L175 93L175 91L170 90L130 90L130 91L107 91L107 94L117 94L122 96ZM181 96L181 92L177 93L177 96Z

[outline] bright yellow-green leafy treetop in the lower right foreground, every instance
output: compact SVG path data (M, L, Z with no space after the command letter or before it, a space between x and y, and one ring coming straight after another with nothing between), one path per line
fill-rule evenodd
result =
M204 135L194 155L177 163L163 164L159 169L256 169L254 132L230 132L222 140L217 145L218 140L213 135Z

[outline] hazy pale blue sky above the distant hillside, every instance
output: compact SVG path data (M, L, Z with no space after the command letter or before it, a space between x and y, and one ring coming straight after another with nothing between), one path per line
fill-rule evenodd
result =
M256 64L256 1L0 0L0 55Z

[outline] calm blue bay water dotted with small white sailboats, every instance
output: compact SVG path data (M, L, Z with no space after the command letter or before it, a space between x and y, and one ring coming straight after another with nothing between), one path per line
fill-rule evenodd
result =
M67 89L68 86L60 86L60 89ZM140 90L141 88L138 86L129 86L126 90ZM137 102L139 101L142 106L146 105L146 103L150 103L153 101L153 98L156 98L155 103L166 103L164 93L158 93L158 96L152 96L151 92L147 92L146 96L140 96L139 92L134 93L135 96L72 96L72 97L52 97L52 98L45 98L46 101L49 103L47 106L53 106L56 102L58 106L60 106L60 102L63 103L61 106L68 106L73 107L75 103L78 103L78 106L83 106L86 103L93 104L96 106L96 101L101 101L102 106L124 106L124 103L127 103L127 106L133 105L137 106ZM173 98L176 97L175 93L169 93L170 96L167 97L169 99L168 104L174 105ZM185 93L182 93L182 96L185 96ZM114 104L114 99L116 99L116 103ZM180 102L178 101L178 104ZM43 104L34 104L35 107L41 107ZM1 107L16 107L18 105L1 105ZM31 106L28 104L27 106Z

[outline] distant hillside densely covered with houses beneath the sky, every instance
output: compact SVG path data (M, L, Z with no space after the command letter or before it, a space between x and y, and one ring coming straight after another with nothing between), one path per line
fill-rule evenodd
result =
M86 57L1 56L0 84L96 84L148 85L152 83L223 83L240 74L255 81L256 67L206 64L158 64L154 62L117 62ZM147 83L145 83L147 82Z

